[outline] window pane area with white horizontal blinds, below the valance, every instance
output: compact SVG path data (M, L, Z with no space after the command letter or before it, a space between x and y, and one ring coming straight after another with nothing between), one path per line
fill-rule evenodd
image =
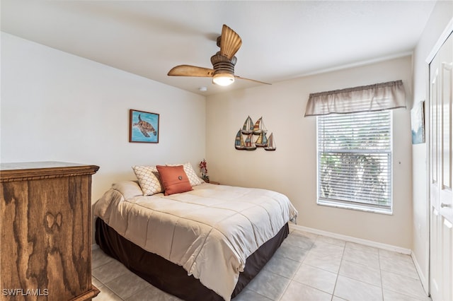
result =
M391 111L316 118L318 203L391 213Z

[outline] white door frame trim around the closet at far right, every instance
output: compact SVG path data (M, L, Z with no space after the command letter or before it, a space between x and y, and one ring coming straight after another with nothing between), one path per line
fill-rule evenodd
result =
M430 95L431 95L431 85L430 85L430 64L431 61L435 58L437 52L439 52L440 47L447 41L447 38L449 35L453 34L453 18L449 21L447 27L444 29L440 37L437 39L437 42L435 45L432 47L430 54L428 54L428 57L425 59L426 62L426 73L427 73L427 89L426 89L426 102L425 102L425 135L426 135L426 141L430 141ZM429 142L426 143L426 175L427 175L427 181L426 181L426 216L427 218L427 225L428 225L428 242L426 242L426 253L428 256L428 277L425 278L425 283L423 283L423 286L428 290L428 295L431 294L431 200L430 200L430 144Z

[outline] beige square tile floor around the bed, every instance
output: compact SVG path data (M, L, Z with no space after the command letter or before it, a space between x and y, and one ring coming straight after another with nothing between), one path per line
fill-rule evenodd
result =
M93 250L95 301L177 297L154 288L101 249ZM234 301L430 300L411 256L293 230ZM201 300L200 300L201 301Z

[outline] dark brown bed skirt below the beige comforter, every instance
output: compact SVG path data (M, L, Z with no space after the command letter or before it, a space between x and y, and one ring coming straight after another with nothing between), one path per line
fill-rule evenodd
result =
M239 281L231 298L238 295L259 273L288 234L289 227L286 223L275 237L265 242L251 256L248 256L246 267L239 274ZM167 293L187 301L223 300L213 290L202 285L198 279L188 276L187 271L182 266L173 264L159 255L147 252L137 244L126 240L125 237L122 237L104 223L101 218L96 219L96 243L105 254L122 262L130 271Z

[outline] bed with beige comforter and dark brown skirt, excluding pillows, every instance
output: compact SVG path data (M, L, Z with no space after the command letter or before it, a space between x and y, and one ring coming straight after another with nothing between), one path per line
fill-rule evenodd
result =
M113 184L96 202L96 243L183 300L228 301L239 294L297 217L276 191L201 181L184 192L166 195L165 187L148 195L140 184Z

